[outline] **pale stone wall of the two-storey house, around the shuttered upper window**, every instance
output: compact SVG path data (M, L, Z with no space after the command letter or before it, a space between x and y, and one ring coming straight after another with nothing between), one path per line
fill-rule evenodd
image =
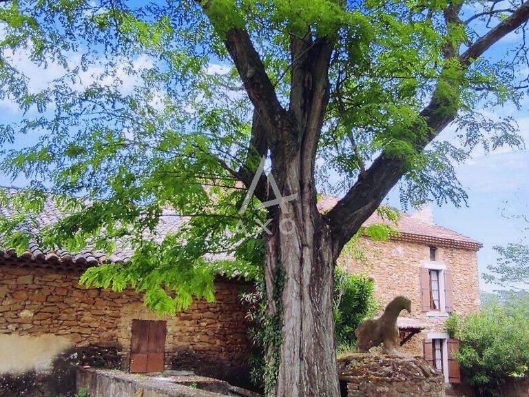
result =
M404 345L406 352L422 355L422 340L428 332L445 332L447 315L427 317L421 310L420 268L429 261L429 246L424 243L390 240L373 241L362 237L367 263L342 255L340 265L349 272L366 272L375 280L375 296L385 307L395 296L404 295L412 301L412 312L402 315L427 325ZM460 248L437 246L437 262L444 263L453 274L453 309L468 314L479 309L479 276L477 252Z

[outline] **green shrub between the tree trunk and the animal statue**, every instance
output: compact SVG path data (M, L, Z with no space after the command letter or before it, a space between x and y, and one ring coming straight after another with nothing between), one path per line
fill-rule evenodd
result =
M338 352L353 349L355 329L364 318L376 314L378 305L374 292L375 283L366 274L350 274L336 268L334 318Z

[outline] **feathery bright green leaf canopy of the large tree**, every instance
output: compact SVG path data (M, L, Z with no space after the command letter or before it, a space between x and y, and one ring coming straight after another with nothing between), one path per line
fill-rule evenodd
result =
M476 145L521 143L512 120L482 110L521 98L526 48L521 39L511 45L508 61L481 54L512 30L525 37L527 8L516 1L8 1L0 6L0 92L25 116L3 123L0 136L6 145L29 139L3 150L1 170L30 181L31 194L15 204L24 216L39 211L43 191L70 214L42 230L43 245L90 243L110 252L129 236L138 252L132 261L85 281L137 285L153 292L152 305L173 311L192 294L211 296L203 255L234 249L240 236L227 238L227 229L242 221L255 231L256 219L264 222L256 209L265 199L262 179L244 214L240 182L248 186L260 157L274 155L258 133L277 128L266 114L304 101L292 94L297 61L333 43L315 162L320 192L351 193L383 153L404 167L404 202L459 204L466 194L455 163ZM303 38L311 42L293 59ZM34 90L20 54L59 77ZM270 110L259 123L256 105ZM437 134L450 121L453 139L423 150L433 128ZM189 218L188 227L155 244L144 231L166 207ZM14 225L3 223L3 244L23 250L28 238ZM258 241L246 243L236 254L240 266L262 254ZM178 304L163 298L162 281L179 287Z

